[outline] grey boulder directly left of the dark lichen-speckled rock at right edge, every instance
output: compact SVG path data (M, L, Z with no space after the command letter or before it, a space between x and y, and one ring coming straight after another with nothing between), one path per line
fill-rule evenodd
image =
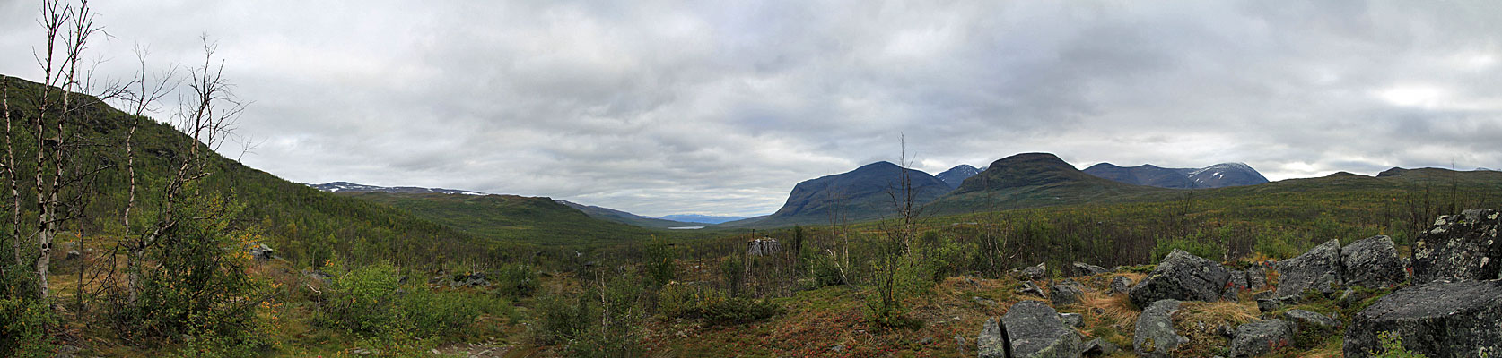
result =
M1407 279L1398 249L1389 237L1370 237L1340 249L1346 286L1389 288Z

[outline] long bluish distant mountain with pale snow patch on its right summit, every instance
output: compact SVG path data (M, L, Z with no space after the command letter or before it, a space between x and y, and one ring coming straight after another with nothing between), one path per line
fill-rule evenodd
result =
M1218 163L1205 168L1161 168L1155 165L1117 166L1098 163L1084 169L1086 174L1126 184L1169 189L1212 189L1232 186L1256 186L1268 183L1257 169L1245 163Z

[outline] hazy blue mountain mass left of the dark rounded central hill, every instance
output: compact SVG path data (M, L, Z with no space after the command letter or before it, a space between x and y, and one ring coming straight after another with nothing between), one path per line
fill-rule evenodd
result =
M927 204L951 190L933 175L907 169L915 201ZM829 223L832 217L849 222L891 217L895 190L901 190L903 168L889 162L876 162L855 171L807 180L793 186L787 202L762 220L739 220L727 226L790 226Z

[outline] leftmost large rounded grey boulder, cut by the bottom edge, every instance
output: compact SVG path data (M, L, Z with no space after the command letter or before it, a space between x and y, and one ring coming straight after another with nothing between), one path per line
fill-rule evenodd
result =
M1080 357L1080 334L1063 325L1059 312L1041 301L1023 300L1002 316L1012 358Z

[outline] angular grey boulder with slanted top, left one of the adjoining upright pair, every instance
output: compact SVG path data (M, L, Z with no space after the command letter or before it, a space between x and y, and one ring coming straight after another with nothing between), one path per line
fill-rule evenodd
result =
M1278 298L1302 297L1305 289L1331 294L1340 288L1340 240L1329 240L1298 258L1278 262Z

